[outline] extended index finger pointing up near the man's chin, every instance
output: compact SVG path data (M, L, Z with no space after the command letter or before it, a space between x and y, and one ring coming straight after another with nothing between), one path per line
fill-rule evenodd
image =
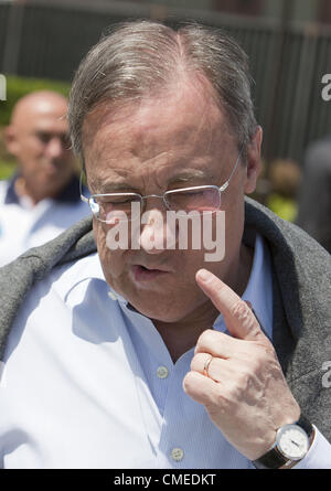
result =
M229 333L239 339L266 338L248 305L224 281L206 269L196 273L196 282L223 313Z

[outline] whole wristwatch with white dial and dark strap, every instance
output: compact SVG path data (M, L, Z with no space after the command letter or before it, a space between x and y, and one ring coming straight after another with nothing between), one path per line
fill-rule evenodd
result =
M253 460L253 465L256 469L290 467L307 455L312 434L312 425L301 415L298 421L284 425L277 430L273 447L264 456Z

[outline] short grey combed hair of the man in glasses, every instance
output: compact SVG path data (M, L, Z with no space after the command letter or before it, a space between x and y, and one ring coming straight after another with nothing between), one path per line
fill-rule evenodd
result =
M116 25L102 38L75 74L68 105L74 151L84 161L83 122L96 106L151 98L183 73L210 82L238 147L245 148L257 124L247 55L242 47L218 29L185 24L175 31L159 22L132 21Z

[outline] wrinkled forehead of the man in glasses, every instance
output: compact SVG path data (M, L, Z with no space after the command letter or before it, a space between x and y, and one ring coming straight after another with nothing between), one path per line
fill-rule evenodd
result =
M191 143L195 151L210 151L220 139L233 140L225 111L210 90L200 85L171 87L158 97L125 104L96 106L83 124L85 162L96 161L107 151L139 150L156 147L156 151L171 152L180 145Z

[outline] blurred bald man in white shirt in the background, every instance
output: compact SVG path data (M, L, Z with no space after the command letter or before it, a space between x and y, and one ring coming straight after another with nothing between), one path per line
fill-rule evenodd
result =
M22 97L4 131L18 169L0 182L0 266L88 214L67 138L67 100L40 90Z

